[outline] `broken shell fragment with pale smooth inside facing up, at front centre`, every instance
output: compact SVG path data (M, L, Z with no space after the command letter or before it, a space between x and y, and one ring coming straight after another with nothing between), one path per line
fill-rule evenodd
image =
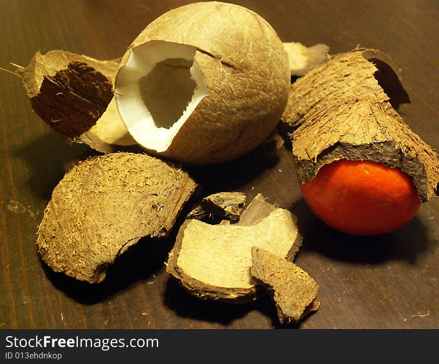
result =
M169 254L167 271L200 298L254 300L251 248L256 245L292 261L302 242L296 221L291 212L271 205L260 194L235 224L186 220Z

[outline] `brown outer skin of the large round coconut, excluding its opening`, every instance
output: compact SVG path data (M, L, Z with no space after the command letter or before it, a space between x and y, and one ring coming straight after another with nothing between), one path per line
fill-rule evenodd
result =
M130 45L116 76L124 121L130 117L130 110L126 116L123 111L124 67L142 47L153 49L155 44L193 49L193 64L204 76L208 94L164 151L151 150L139 142L146 132L128 127L145 149L187 164L217 163L254 149L276 127L288 98L288 58L276 32L259 15L206 1L173 9L150 23Z

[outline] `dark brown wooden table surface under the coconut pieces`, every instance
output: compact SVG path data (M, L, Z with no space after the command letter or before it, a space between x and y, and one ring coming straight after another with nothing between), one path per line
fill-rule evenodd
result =
M27 65L39 50L120 57L137 34L179 0L0 0L0 67ZM400 113L439 149L439 2L435 0L232 1L264 17L282 41L356 45L388 53L412 103ZM206 192L260 192L297 215L296 264L319 284L319 310L280 326L268 298L243 305L201 301L164 269L173 238L142 239L99 285L55 274L40 260L36 232L51 191L93 155L69 145L32 112L21 80L0 72L0 328L432 329L439 327L439 200L401 230L358 238L325 227L296 183L288 144L220 166L191 169Z

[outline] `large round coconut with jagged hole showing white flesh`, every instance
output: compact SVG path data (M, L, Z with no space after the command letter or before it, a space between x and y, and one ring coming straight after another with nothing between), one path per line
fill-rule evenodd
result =
M290 87L287 53L253 11L207 1L168 11L129 46L116 103L145 150L192 165L242 156L276 127Z

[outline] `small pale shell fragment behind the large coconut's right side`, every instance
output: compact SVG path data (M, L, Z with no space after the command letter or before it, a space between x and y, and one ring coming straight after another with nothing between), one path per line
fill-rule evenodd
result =
M298 42L284 42L283 47L288 53L291 76L305 75L326 60L329 52L329 46L326 44L306 47Z

